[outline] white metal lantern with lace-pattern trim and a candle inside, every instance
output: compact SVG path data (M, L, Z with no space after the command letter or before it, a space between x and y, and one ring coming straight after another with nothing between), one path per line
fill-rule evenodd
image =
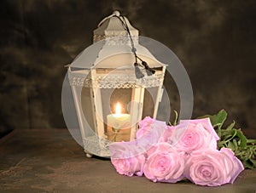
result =
M138 122L157 116L165 71L118 11L102 20L94 43L68 67L88 156L110 156L110 143L135 139Z

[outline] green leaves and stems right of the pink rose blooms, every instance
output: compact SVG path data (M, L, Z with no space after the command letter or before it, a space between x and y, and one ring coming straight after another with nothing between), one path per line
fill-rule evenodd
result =
M224 122L228 113L224 110L216 115L206 115L199 118L209 117L213 128L218 133L218 148L227 147L235 152L245 168L256 167L256 139L247 139L241 132L241 128L234 128L236 122L232 122L224 128Z

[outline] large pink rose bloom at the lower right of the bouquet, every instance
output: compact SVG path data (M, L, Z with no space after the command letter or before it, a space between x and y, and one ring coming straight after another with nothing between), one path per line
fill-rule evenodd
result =
M189 156L185 176L195 184L218 186L232 184L243 169L241 161L230 149L204 150Z

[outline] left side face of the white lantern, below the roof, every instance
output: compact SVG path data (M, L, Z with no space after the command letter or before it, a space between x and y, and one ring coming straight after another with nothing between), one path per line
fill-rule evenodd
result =
M79 122L84 152L87 157L109 156L108 142L104 132L102 114L102 94L97 82L96 69L90 68L82 71L72 71L68 68L68 79L73 94L73 102ZM82 90L89 88L90 106L92 111L92 127L86 121L82 105ZM91 130L91 131L90 131Z

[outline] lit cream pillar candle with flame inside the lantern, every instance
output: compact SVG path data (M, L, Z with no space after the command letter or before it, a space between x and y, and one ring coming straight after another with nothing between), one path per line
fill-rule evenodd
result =
M130 140L131 116L121 112L121 105L115 106L115 114L107 116L108 139L113 141Z

